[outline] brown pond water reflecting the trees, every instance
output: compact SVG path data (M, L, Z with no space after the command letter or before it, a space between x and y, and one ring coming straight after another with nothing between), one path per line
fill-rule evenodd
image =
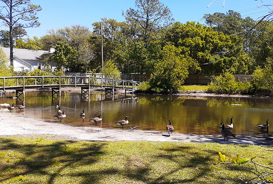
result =
M14 96L6 93L6 96ZM22 105L21 99L0 97L0 103ZM105 98L105 94L91 94L85 98L79 93L62 92L61 99L51 97L50 91L26 92L26 108L13 110L11 113L22 114L42 120L59 121L53 117L57 114L56 104L66 111L62 121L75 126L96 126L101 128L121 128L114 124L124 120L128 115L129 124L125 129L140 126L140 130L166 131L171 120L174 132L194 134L219 134L220 123L230 123L233 119L232 132L238 134L261 133L255 126L265 124L266 119L273 123L273 100L260 98L185 98L172 95L115 95ZM230 104L242 104L234 106ZM80 117L85 109L85 119ZM2 111L7 109L2 108ZM10 113L10 112L6 112ZM89 119L103 115L102 122L95 125ZM269 122L270 123L270 122ZM272 131L271 131L272 132Z

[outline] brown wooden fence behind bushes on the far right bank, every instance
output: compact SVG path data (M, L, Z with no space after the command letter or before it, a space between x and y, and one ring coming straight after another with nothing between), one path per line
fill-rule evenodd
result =
M195 75L188 75L188 78L185 79L184 84L202 84L207 85L209 82L211 82L210 78L213 75L202 75L202 74L195 74ZM219 75L216 75L219 76ZM247 79L247 82L250 82L252 80L251 75L233 75L235 77L235 81L242 81L244 82L245 79Z

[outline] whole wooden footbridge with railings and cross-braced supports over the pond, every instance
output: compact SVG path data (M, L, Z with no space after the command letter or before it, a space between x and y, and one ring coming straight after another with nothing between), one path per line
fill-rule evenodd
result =
M18 76L0 77L0 90L16 90L16 97L25 97L25 89L52 89L52 96L61 96L61 87L81 87L81 94L90 95L90 88L105 88L106 95L115 89L137 90L141 82L82 76Z

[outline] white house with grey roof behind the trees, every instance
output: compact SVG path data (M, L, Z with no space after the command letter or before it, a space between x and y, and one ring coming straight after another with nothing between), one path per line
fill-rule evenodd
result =
M2 47L2 50L6 53L6 56L10 57L10 48ZM55 49L50 49L50 51L42 50L28 50L22 48L13 48L13 70L14 71L34 71L35 69L41 69L45 67L45 63L40 61L40 56L44 53L54 52ZM10 64L10 63L9 63ZM56 68L56 62L48 63L52 71Z

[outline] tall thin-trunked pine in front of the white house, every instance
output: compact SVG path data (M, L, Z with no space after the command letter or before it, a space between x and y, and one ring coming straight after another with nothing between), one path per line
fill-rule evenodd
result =
M10 65L13 66L13 28L38 27L40 23L36 12L42 8L40 5L31 4L30 0L1 0L0 9L0 19L9 27Z

